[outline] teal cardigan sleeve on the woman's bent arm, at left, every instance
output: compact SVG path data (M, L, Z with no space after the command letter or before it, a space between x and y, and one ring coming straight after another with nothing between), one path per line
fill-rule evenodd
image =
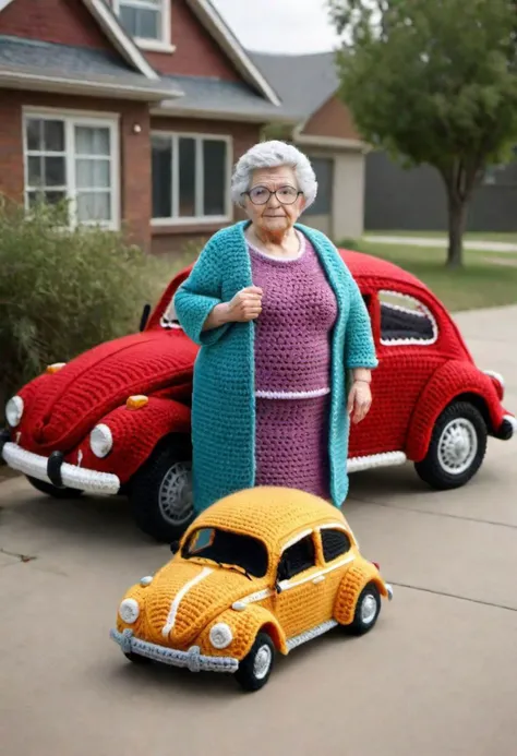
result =
M216 304L221 303L221 274L216 245L203 248L191 274L175 295L175 308L181 327L195 344L211 346L230 327L225 323L203 331L203 324Z

